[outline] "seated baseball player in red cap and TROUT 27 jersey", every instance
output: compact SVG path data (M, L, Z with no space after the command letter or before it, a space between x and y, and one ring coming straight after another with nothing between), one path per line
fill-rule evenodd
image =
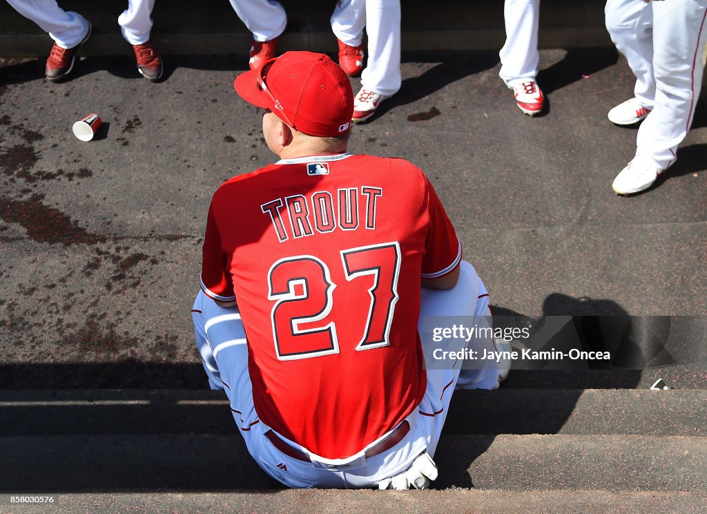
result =
M280 160L211 199L192 310L209 383L286 486L424 489L455 385L499 370L426 370L418 321L489 315L484 284L421 170L346 153L354 95L332 59L286 52L235 90Z

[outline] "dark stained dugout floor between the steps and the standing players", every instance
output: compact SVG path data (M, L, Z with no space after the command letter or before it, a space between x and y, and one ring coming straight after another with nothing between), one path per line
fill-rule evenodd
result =
M53 387L52 366L117 364L97 387L193 386L179 366L198 369L189 308L211 193L274 160L260 113L233 93L242 63L172 57L156 84L122 57L84 59L66 83L41 68L0 69L4 385L23 387L13 366L40 368L39 387L46 366ZM351 151L426 171L498 313L703 315L704 110L665 178L617 197L636 130L606 112L631 94L626 64L610 48L548 50L541 68L549 110L531 119L495 54L419 54ZM83 143L71 124L89 112L105 124ZM146 363L174 373L119 373Z

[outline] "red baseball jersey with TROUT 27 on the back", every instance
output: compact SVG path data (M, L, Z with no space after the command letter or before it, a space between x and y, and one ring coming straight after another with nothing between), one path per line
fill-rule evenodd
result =
M397 426L426 388L420 280L462 250L432 185L406 160L280 160L211 199L201 288L238 298L255 409L328 459Z

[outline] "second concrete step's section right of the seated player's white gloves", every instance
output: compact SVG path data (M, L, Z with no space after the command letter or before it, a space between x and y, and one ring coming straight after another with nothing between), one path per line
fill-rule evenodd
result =
M437 487L707 491L707 438L445 436L436 462Z

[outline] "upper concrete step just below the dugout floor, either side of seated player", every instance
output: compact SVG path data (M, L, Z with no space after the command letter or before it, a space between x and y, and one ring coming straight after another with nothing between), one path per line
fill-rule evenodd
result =
M235 431L209 390L0 390L0 436ZM457 391L445 434L707 436L703 390Z

